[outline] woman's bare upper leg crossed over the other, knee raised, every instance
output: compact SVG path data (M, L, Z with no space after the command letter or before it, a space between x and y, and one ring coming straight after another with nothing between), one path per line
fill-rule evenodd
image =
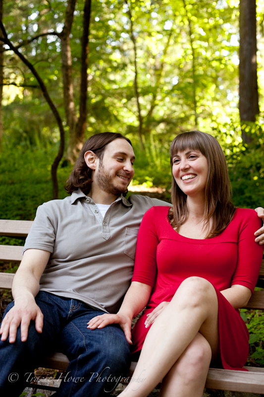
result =
M155 320L124 396L146 397L166 376L198 331L209 342L212 358L219 353L218 301L211 283L189 277Z

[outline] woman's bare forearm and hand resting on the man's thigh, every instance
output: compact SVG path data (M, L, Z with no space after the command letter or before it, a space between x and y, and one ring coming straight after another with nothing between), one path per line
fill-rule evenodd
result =
M96 328L104 328L109 324L119 324L128 343L132 344L131 321L147 305L151 290L151 285L132 281L117 314L103 314L102 316L94 317L87 323L87 328L95 330Z

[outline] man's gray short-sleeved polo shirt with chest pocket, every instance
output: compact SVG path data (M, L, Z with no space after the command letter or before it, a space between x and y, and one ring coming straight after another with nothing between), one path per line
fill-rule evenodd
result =
M40 290L116 313L131 282L142 217L154 205L169 204L120 196L103 218L78 190L40 205L24 247L51 253Z

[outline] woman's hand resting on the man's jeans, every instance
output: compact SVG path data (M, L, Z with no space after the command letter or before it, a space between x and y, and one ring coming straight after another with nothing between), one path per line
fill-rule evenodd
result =
M96 330L97 328L104 328L110 324L119 324L124 331L126 340L132 344L131 340L131 319L123 314L102 314L96 316L87 323L89 330Z

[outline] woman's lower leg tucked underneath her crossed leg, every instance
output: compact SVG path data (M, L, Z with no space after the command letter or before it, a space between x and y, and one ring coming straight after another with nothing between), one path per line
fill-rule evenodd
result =
M163 378L159 397L202 397L210 362L210 344L198 332Z

